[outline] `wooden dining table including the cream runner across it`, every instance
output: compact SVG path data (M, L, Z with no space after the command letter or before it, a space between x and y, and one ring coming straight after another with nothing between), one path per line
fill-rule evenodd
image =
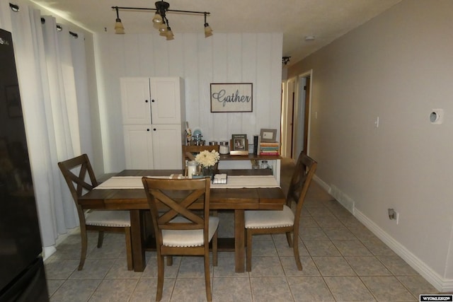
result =
M219 170L226 174L226 184L211 185L210 209L234 211L234 238L219 238L219 251L234 251L235 272L245 272L246 210L281 210L285 193L270 169ZM82 209L130 211L132 262L134 271L146 267L145 251L155 249L149 229L149 205L141 178L182 178L183 170L122 170L79 198ZM110 185L109 185L110 184ZM197 208L195 202L193 208Z

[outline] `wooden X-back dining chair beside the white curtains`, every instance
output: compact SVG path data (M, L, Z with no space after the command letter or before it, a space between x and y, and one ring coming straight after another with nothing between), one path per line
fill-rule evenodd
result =
M71 192L72 199L76 204L79 215L81 253L79 270L84 268L88 240L86 231L98 231L98 248L102 247L104 232L125 233L127 269L132 270L132 243L130 233L129 211L106 211L88 210L84 211L79 204L79 197L98 186L98 180L94 175L93 168L86 154L58 163ZM87 174L88 173L88 174Z

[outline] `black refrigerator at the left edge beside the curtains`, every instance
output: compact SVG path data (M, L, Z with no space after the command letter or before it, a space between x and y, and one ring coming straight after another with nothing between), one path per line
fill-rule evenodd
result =
M0 29L0 302L49 301L11 33Z

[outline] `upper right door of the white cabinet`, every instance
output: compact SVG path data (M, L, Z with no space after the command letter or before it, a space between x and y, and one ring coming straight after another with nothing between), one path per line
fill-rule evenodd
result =
M181 124L181 79L151 78L152 124Z

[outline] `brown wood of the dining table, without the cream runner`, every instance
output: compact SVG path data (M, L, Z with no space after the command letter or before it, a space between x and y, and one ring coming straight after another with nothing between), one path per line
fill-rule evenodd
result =
M182 174L181 170L122 170L115 176L168 176ZM219 170L226 175L270 175L269 169ZM129 210L131 220L132 262L134 271L143 272L145 251L155 248L152 234L147 231L149 206L144 189L93 189L79 198L83 209ZM196 204L196 203L195 203ZM234 211L234 238L219 238L218 248L234 250L235 272L244 272L245 238L244 211L250 209L279 210L285 204L280 187L212 187L210 209ZM196 205L195 205L196 207ZM148 210L148 211L147 211ZM148 215L147 215L148 214Z

